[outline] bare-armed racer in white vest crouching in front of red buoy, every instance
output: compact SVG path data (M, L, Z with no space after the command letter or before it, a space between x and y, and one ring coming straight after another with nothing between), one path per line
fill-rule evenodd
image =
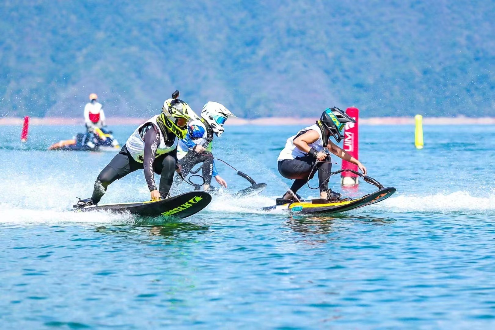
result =
M287 140L285 148L280 152L277 159L278 170L284 178L295 179L295 181L291 189L282 198L277 198L277 204L299 200L300 196L296 193L297 190L312 179L317 170L320 198L327 201L340 199L340 193L328 189L332 163L330 154L324 152L326 150L357 165L363 174L366 174L366 167L361 162L330 141L331 137L337 143L344 139L341 132L347 122L355 123L356 121L337 107L327 108L316 124L300 130L295 136Z

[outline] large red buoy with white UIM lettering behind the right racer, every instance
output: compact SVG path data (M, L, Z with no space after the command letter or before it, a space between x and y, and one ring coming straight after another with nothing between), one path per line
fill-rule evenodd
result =
M359 123L359 109L350 107L346 110L347 115L354 119L355 123L347 123L344 130L344 147L352 157L358 158L359 144L358 144L358 123ZM342 161L342 168L354 171L359 171L357 165L349 163L348 161ZM342 185L353 186L359 184L359 176L351 172L342 172Z

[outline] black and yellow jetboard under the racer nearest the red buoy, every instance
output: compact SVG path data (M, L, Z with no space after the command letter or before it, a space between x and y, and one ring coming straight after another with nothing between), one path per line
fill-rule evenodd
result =
M310 200L264 207L263 210L287 210L295 214L339 213L375 204L389 198L396 192L394 187L383 188L354 200L342 200L325 204L313 204Z

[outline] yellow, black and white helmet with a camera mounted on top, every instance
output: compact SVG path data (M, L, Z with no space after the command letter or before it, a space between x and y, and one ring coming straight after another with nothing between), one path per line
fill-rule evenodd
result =
M177 91L176 91L177 92ZM163 103L158 121L174 133L179 139L186 138L187 124L191 120L199 119L198 115L191 109L189 104L177 97L169 98ZM174 94L175 95L175 92Z

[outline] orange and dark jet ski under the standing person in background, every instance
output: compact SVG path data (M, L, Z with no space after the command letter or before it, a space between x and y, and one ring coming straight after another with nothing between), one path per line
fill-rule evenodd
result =
M49 150L115 151L120 148L112 131L97 128L93 133L78 133L71 140L62 140L49 146Z

